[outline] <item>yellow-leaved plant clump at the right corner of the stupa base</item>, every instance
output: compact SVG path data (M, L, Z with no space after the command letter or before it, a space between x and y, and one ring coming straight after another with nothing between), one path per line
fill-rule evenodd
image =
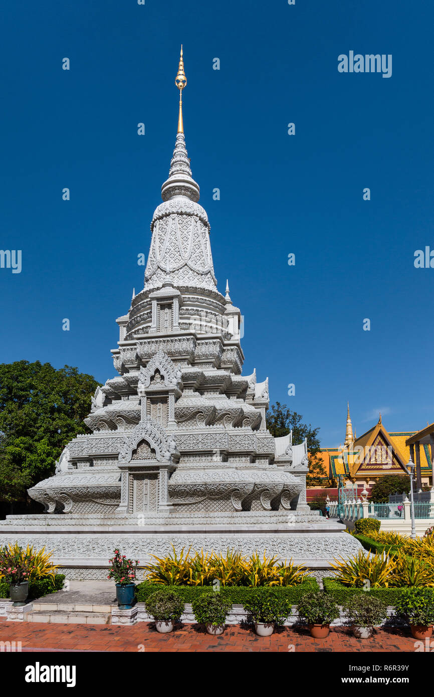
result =
M363 588L369 581L371 588L392 585L396 561L385 553L359 551L350 558L338 557L330 566L336 571L336 580L344 585Z

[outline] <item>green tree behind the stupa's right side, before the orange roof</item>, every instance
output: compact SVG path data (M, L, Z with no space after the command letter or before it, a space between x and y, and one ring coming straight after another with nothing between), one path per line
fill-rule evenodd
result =
M267 428L274 438L287 436L290 431L293 431L293 444L302 443L304 438L307 438L307 450L309 452L309 474L306 477L308 486L325 484L327 486L327 472L323 464L323 460L318 454L320 450L320 439L318 431L320 427L313 428L311 424L302 422L302 415L296 411L288 409L286 404L272 404L271 409L268 409L266 419Z

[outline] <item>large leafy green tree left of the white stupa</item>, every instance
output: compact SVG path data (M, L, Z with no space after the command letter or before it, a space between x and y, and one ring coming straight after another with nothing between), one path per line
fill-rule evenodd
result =
M88 433L83 419L99 383L65 365L20 360L0 365L0 498L19 500L54 473L63 447Z

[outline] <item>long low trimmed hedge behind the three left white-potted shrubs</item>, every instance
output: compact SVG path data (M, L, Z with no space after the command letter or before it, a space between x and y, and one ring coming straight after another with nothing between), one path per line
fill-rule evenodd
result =
M137 602L144 602L146 598L155 590L161 590L162 588L170 588L174 593L180 595L185 603L191 603L194 598L201 593L206 593L210 591L209 585L160 585L159 583L148 583L148 581L143 581L136 586L136 597ZM266 586L261 586L261 588L267 588ZM292 605L296 605L300 597L309 590L319 590L318 583L313 576L306 576L303 583L298 583L297 585L283 586L283 585L273 585L271 588L277 590L281 593L282 597L287 599ZM221 586L220 592L222 596L231 601L233 605L244 605L244 603L251 597L251 587L245 585L228 585Z

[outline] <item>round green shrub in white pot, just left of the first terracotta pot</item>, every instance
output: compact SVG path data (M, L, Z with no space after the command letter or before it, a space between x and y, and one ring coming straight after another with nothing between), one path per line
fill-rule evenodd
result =
M274 625L283 625L291 611L290 602L274 588L254 588L244 608L251 615L258 636L270 636Z

